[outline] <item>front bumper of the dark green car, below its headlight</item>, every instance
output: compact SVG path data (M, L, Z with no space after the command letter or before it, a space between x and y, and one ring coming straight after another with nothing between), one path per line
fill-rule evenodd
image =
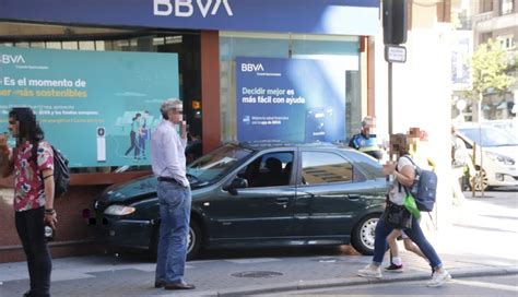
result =
M110 216L97 216L97 219L91 219L91 225L95 229L96 241L108 248L149 249L154 229L151 221Z

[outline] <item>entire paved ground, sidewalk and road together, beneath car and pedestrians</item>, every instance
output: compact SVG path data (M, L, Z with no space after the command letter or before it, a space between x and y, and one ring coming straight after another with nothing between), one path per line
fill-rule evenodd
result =
M431 238L454 282L427 288L429 266L402 251L405 272L384 280L357 277L370 257L349 246L329 248L208 251L187 263L186 296L263 294L481 295L516 296L518 281L518 197L516 189L470 198L454 210L451 229ZM387 262L387 259L386 259ZM178 296L153 288L155 263L142 253L54 260L52 296ZM25 262L0 264L0 296L28 287Z

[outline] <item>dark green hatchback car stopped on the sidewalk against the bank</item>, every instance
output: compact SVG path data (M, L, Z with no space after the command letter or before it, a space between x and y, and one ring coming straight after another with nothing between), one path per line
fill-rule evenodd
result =
M372 157L335 145L226 144L188 166L188 258L201 249L349 245L374 250L387 181ZM99 240L156 250L156 178L109 187L93 203Z

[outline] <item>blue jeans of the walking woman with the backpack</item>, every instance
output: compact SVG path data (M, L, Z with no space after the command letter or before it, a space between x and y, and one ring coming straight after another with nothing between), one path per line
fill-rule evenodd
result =
M384 262L384 256L387 251L387 236L392 230L393 228L387 225L382 219L378 221L374 239L374 264L381 265L381 263ZM414 241L415 245L417 245L424 256L426 256L426 259L428 259L429 265L434 271L443 266L443 263L440 262L437 252L435 252L434 247L432 247L428 240L426 240L426 237L424 237L423 230L421 229L421 226L414 216L412 216L412 228L404 229L404 233L412 241Z

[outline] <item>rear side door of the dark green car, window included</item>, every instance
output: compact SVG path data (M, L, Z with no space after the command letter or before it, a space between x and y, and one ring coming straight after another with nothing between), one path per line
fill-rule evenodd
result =
M297 235L308 237L349 236L358 214L375 194L349 159L332 151L301 152L301 175L295 203Z

